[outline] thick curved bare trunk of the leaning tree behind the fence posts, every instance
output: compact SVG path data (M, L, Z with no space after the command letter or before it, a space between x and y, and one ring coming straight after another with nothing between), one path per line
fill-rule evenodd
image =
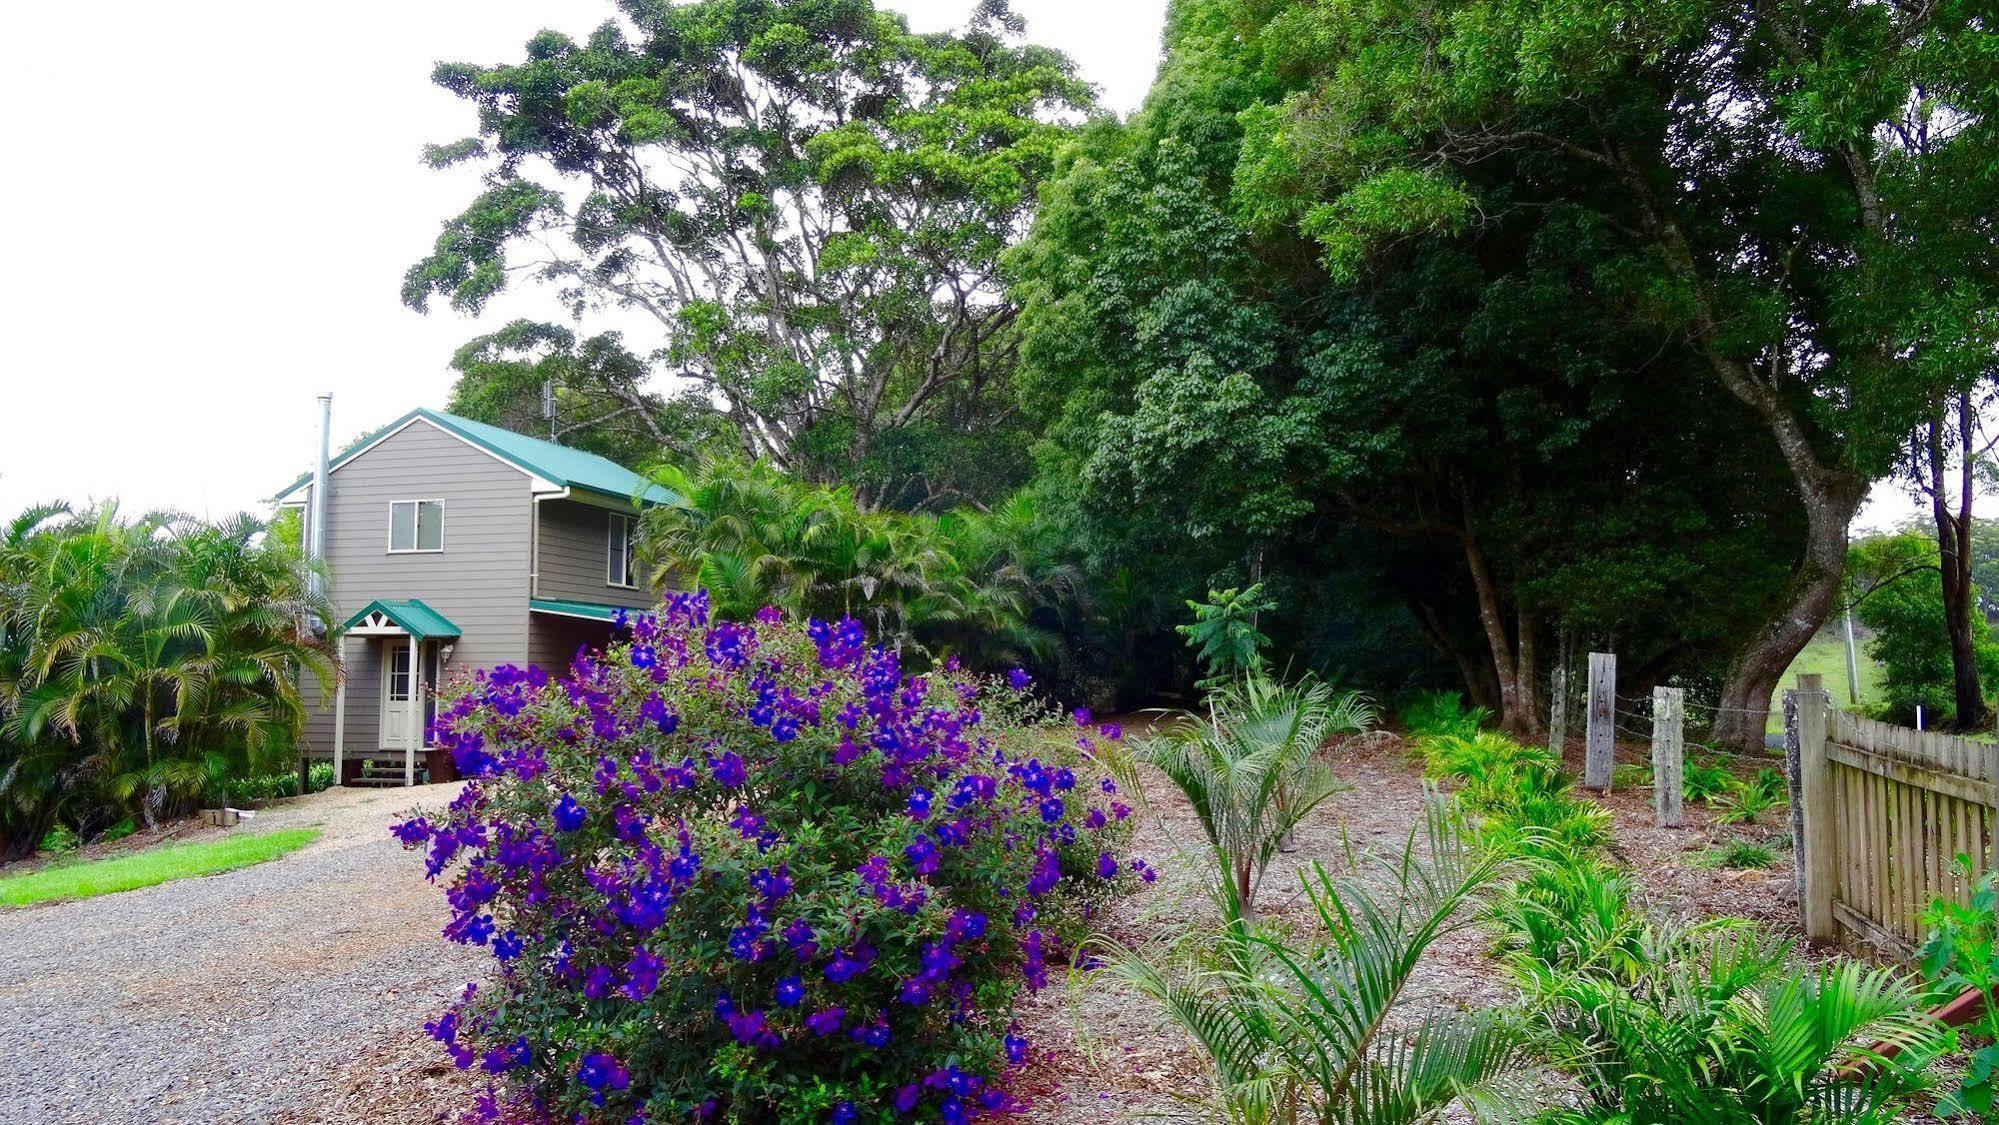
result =
M1721 713L1715 717L1715 745L1737 753L1763 749L1769 697L1839 597L1847 565L1847 526L1867 498L1867 482L1851 474L1811 474L1809 482L1799 476L1807 516L1805 558L1791 575L1783 609L1735 655L1729 685L1721 693Z

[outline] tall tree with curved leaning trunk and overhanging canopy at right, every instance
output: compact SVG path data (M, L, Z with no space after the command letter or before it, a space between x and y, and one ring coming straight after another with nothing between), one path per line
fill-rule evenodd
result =
M1295 4L1265 42L1299 90L1245 164L1347 278L1521 208L1591 216L1595 292L1691 348L1793 478L1789 589L1715 731L1759 745L1869 482L1993 354L1991 40L1969 0Z

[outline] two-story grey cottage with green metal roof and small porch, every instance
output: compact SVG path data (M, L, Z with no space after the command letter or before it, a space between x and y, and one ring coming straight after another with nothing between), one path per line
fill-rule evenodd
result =
M304 512L308 542L312 490L308 474L276 496ZM632 538L638 506L664 500L596 454L436 410L332 458L320 544L348 615L346 675L306 753L332 757L342 783L450 777L450 755L424 745L438 683L502 663L558 671L604 643L620 607L652 603Z

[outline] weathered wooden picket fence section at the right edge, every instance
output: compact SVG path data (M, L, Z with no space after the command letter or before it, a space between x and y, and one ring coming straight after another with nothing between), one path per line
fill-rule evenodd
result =
M1931 901L1963 901L1993 861L1999 745L1849 715L1817 675L1795 703L1805 937L1911 955Z

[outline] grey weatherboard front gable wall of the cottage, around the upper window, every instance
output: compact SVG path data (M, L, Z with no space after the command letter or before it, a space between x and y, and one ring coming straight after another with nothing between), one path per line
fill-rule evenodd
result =
M392 500L442 500L444 550L388 554ZM404 426L328 478L326 569L340 619L376 599L420 597L464 633L446 681L526 661L532 518L528 474L428 422ZM346 651L346 743L364 753L380 743L382 637L348 637ZM308 685L306 739L324 757L334 699L318 695Z

